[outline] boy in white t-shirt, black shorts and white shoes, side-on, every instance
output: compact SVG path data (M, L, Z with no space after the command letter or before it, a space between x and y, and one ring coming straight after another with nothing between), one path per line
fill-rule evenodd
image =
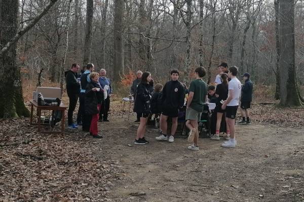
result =
M235 138L235 118L239 107L239 99L241 96L242 84L237 79L238 68L232 66L229 68L228 77L231 78L228 83L228 97L222 105L222 109L226 110L227 124L230 128L230 140L224 142L222 147L236 147L237 141Z

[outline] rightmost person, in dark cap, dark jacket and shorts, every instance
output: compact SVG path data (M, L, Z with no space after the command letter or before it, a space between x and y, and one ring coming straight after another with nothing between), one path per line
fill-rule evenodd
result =
M245 82L244 85L242 85L242 95L241 95L241 114L242 114L242 121L239 122L239 124L250 124L251 121L249 119L249 110L251 101L252 101L252 90L253 90L253 84L250 81L250 75L249 73L245 73L243 75L243 81ZM247 119L245 119L245 113Z

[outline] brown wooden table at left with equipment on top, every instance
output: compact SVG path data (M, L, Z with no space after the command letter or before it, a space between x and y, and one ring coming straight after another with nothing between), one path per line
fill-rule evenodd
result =
M33 99L29 100L31 104L30 108L30 124L37 124L38 125L38 132L43 132L43 133L64 133L64 111L66 110L67 107L63 103L60 104L59 107L55 106L39 106L36 101ZM32 122L33 121L33 107L37 109L37 122ZM41 123L41 110L59 110L62 112L62 119L61 119L61 130L60 131L41 131L41 125L44 125L44 123Z

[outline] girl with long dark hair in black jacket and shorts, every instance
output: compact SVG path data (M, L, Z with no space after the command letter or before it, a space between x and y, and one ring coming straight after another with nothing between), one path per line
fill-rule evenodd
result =
M149 72L144 72L141 77L141 82L137 86L136 99L134 102L134 112L140 117L140 123L137 128L137 134L134 144L144 145L149 143L144 138L145 128L147 124L147 118L151 113L151 92L149 89L150 81L152 80Z

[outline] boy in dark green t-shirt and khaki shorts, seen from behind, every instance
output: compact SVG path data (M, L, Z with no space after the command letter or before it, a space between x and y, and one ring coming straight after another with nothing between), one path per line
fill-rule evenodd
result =
M206 70L202 66L195 70L196 79L190 83L186 108L186 126L190 129L188 142L193 142L188 149L195 151L199 150L198 120L201 119L204 103L208 98L208 85L203 81L205 75Z

